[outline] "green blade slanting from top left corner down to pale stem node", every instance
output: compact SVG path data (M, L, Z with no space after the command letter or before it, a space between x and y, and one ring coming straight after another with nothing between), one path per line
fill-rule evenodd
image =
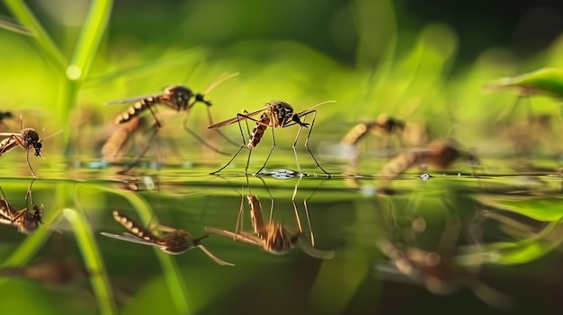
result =
M27 5L19 0L4 0L4 4L6 4L8 9L13 13L13 16L35 35L37 43L43 50L43 53L47 55L50 62L56 66L60 72L63 72L67 67L67 60L65 60L65 57L63 57L53 40L50 39L49 34L43 29L40 22L37 21Z

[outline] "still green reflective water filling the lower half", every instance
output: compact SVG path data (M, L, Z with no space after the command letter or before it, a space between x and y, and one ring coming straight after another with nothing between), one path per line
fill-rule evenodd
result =
M555 171L461 163L429 178L408 171L384 191L361 174L385 159L354 172L321 160L332 178L275 156L258 176L237 163L209 175L220 162L201 159L125 175L33 159L36 180L21 159L6 161L4 199L42 205L43 223L29 235L0 226L5 314L563 311ZM176 229L192 242L168 243Z

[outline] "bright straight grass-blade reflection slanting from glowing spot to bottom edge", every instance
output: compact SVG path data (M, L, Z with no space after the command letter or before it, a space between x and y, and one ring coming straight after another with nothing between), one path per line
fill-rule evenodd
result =
M63 213L67 217L68 222L72 226L76 243L78 248L82 252L82 257L85 261L85 266L88 270L94 270L95 272L90 276L90 281L92 283L92 289L98 300L101 314L115 314L115 304L113 303L112 286L105 273L105 267L103 267L103 260L100 255L100 250L96 241L94 241L94 235L90 229L90 224L87 222L85 216L76 212L72 209L64 209Z

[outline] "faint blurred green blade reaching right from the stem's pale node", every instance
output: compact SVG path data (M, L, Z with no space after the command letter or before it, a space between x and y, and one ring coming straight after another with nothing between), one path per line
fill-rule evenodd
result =
M155 72L157 72L157 70L161 70L165 66L181 65L186 63L186 60L200 59L203 54L204 50L202 48L183 50L179 53L174 54L173 56L162 57L155 61L139 66L132 66L127 69L117 69L105 74L91 76L86 79L85 84L104 84L120 77L154 74Z

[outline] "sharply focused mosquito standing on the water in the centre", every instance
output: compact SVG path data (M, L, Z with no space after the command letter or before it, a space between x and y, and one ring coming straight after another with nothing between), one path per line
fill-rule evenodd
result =
M317 167L325 172L325 174L327 176L330 177L330 173L325 171L325 169L323 169L320 164L317 162L317 159L315 158L315 155L313 155L313 153L311 152L311 150L308 147L308 140L309 137L311 136L311 132L313 131L313 126L315 125L315 118L317 118L317 107L326 104L326 103L334 103L336 101L323 101L322 103L319 103L309 109L305 109L299 113L295 112L295 110L293 110L293 107L291 107L291 105L285 101L269 101L265 104L265 108L263 109L257 109L255 111L252 112L246 112L241 114L238 113L237 117L234 118L228 118L226 120L220 121L216 124L211 125L210 127L207 127L208 129L216 129L219 127L225 127L228 126L230 124L234 124L236 122L238 122L238 127L240 129L240 135L242 136L243 139L243 144L240 146L240 148L238 148L237 152L233 155L233 157L227 162L227 164L225 164L223 167L221 167L219 170L212 172L211 174L216 174L219 171L222 171L223 169L225 169L231 162L233 162L233 160L235 160L235 158L237 157L238 153L240 153L242 151L243 148L247 147L250 151L248 152L248 159L246 160L246 168L245 168L245 173L248 171L248 164L250 162L250 154L252 153L252 149L254 149L256 147L256 145L258 145L260 143L260 140L262 139L262 137L264 136L264 132L266 131L266 128L271 127L272 128L272 139L273 139L273 144L272 144L272 148L270 149L270 153L268 153L268 156L266 157L266 161L264 162L264 165L262 165L262 167L260 168L260 170L256 171L255 174L258 174L260 171L264 170L264 167L266 166L266 163L268 162L268 160L270 159L270 156L273 153L273 148L275 147L275 136L273 133L273 130L277 127L290 127L293 125L299 125L299 131L297 132L297 136L295 137L295 141L293 142L292 148L293 148L293 153L295 154L295 161L297 162L297 167L299 168L299 172L301 171L301 167L299 166L299 159L297 157L297 150L295 149L295 145L297 144L297 141L299 140L299 136L301 135L301 130L303 129L303 127L308 127L308 135L307 135L307 140L305 141L305 147L308 150L308 153L311 154L311 157L313 158L313 161L315 161L315 163L317 164ZM255 119L252 118L255 115L260 115L260 118ZM310 124L305 123L301 120L301 118L303 117L307 117L309 114L313 115L313 119L311 121ZM246 144L245 141L245 136L243 134L243 129L240 125L240 121L241 120L245 120L245 119L250 119L255 121L255 126L252 129L252 132L249 133L249 139L248 139L248 144ZM310 127L309 127L310 126Z

